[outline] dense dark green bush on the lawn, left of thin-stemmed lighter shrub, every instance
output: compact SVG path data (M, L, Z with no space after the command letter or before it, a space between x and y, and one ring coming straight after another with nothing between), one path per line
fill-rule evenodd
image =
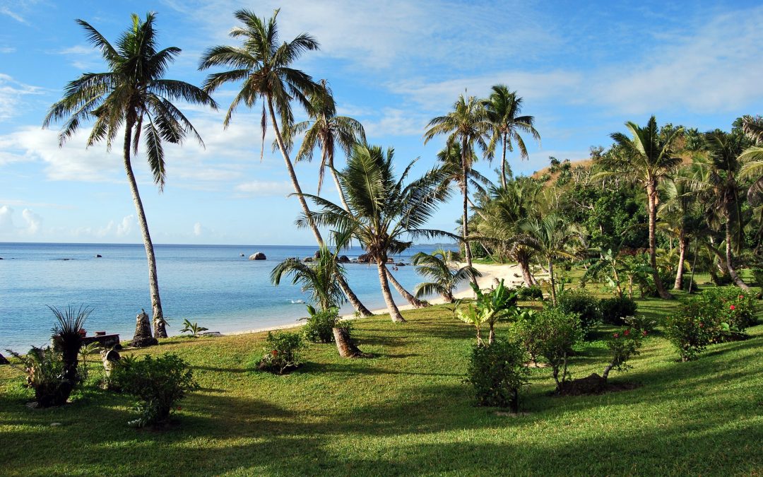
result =
M519 408L520 388L527 383L525 350L517 341L495 340L490 346L475 345L465 382L472 385L478 406Z

